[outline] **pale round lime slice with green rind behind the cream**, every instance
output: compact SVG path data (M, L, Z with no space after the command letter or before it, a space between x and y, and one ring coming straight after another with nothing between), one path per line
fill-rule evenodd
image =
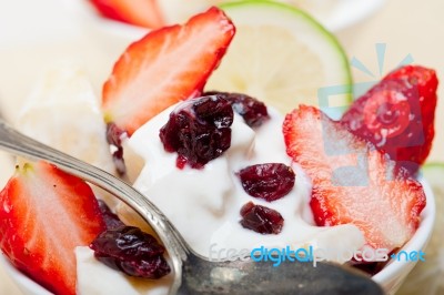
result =
M264 0L221 8L236 34L206 90L246 93L282 113L300 103L320 105L321 89L332 99L329 106L351 103L347 58L337 40L305 12Z

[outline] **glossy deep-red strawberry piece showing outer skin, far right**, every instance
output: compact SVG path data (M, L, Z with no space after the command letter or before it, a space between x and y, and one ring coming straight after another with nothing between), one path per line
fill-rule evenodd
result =
M432 148L436 88L433 70L400 68L356 100L341 121L415 173Z

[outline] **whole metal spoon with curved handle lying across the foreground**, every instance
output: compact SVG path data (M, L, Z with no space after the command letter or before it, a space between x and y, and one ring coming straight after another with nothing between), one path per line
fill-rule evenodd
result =
M111 174L34 141L0 120L0 149L30 160L44 160L115 195L158 233L171 257L170 294L383 294L357 271L343 266L284 261L209 261L195 254L167 216L144 195Z

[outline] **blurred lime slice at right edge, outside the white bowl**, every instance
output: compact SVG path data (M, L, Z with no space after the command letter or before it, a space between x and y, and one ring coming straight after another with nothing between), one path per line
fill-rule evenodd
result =
M397 295L444 294L444 163L430 163L423 173L435 195L436 220L425 248L425 262L418 262L401 286Z

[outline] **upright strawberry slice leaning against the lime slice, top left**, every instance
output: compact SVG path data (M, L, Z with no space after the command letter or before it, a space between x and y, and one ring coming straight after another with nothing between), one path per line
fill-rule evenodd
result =
M103 85L107 123L131 135L168 106L198 96L234 32L228 17L211 8L183 26L151 31L132 43Z

